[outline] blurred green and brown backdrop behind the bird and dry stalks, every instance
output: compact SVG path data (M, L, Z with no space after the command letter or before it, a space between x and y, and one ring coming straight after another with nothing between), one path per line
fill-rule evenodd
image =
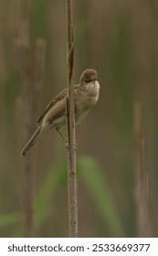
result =
M46 39L42 108L67 86L65 1L29 4L30 52ZM98 70L100 101L76 129L79 237L135 237L133 103L142 103L150 219L158 236L158 1L73 1L75 77ZM0 0L0 237L23 236L21 80L15 41L20 0ZM38 117L38 116L37 116ZM36 129L36 120L35 127ZM68 237L66 149L51 131L37 145L37 237Z

